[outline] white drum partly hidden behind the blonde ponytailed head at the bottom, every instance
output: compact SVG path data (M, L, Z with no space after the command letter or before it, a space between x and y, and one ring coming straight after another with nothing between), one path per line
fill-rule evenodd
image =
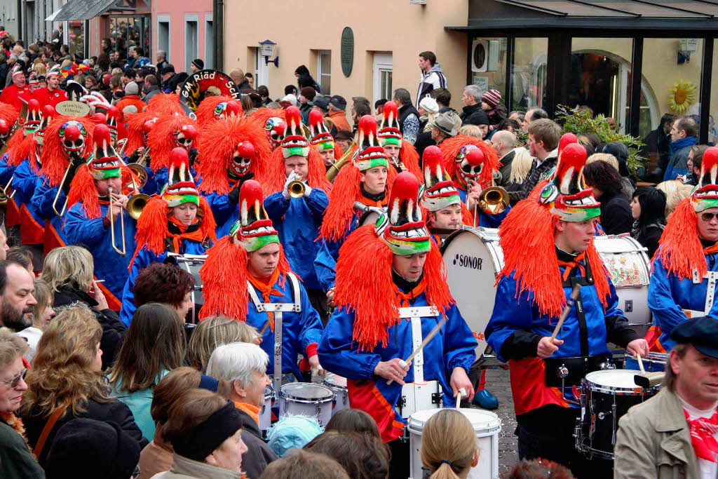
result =
M409 417L409 444L411 447L411 478L429 477L429 470L421 463L421 433L424 424L441 409L416 411ZM469 471L469 479L498 479L498 434L501 432L501 419L491 411L483 409L458 409L471 422L476 432L479 447L479 463Z

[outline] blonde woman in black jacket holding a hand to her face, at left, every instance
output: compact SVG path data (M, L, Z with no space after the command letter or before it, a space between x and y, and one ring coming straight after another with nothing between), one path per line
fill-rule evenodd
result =
M54 248L45 256L42 279L54 292L53 309L60 313L70 307L92 310L102 327L102 367L106 369L119 351L125 325L108 307L101 287L93 280L93 257L82 246Z

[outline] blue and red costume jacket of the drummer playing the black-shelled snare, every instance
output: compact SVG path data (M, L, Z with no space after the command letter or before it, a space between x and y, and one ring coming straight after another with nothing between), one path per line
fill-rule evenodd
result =
M585 263L587 261L582 261L582 264ZM565 268L557 266L556 274L564 274ZM569 280L584 276L579 268L574 268ZM638 338L628 326L623 311L618 308L618 297L610 278L608 282L610 295L605 311L595 285L591 283L581 287L582 315L577 314L577 304L574 304L556 337L564 343L551 358L607 355L607 341L625 346L630 340ZM517 287L513 274L500 279L493 314L485 330L486 340L498 358L509 362L516 414L546 404L571 406L566 401L575 399L571 388L567 387L561 396L559 388L546 386L544 360L536 353L538 341L553 334L558 318L538 312L538 306L533 303L533 292L523 291L517 298ZM571 293L572 286L564 282L567 299Z

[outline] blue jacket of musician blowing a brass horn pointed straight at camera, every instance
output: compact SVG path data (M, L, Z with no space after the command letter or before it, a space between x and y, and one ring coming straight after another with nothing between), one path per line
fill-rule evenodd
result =
M317 236L327 205L327 193L317 188L312 188L309 196L301 198L287 200L279 191L264 200L264 209L279 233L286 259L307 289L320 288L314 272L314 259L320 248Z

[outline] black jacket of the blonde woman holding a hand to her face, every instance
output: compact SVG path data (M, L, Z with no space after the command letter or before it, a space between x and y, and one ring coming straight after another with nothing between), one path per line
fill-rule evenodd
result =
M55 312L78 306L88 307L92 310L98 304L95 298L79 289L69 286L61 286L58 289L60 291L55 292L55 302L52 303L52 308ZM102 326L100 349L102 350L102 369L104 371L108 366L112 365L115 361L115 356L120 352L127 328L113 310L92 310L92 312L95 313L95 318Z

